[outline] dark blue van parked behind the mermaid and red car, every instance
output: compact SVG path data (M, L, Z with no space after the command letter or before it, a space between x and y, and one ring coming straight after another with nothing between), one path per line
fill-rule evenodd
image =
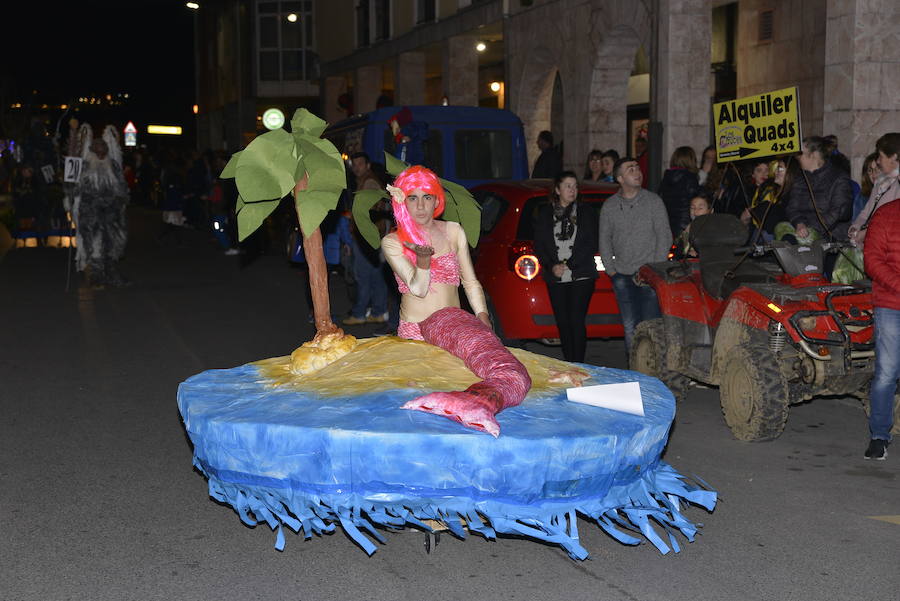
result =
M405 155L391 120L399 114L411 122L417 138L415 156ZM372 162L384 152L407 162L421 162L439 176L470 188L497 180L528 178L522 121L503 109L476 106L390 106L330 125L322 137L331 140L345 159L363 151Z

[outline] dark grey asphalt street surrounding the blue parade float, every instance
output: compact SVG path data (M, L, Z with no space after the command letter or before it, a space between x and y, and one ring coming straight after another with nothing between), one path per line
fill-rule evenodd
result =
M678 554L584 520L584 562L478 535L445 534L427 554L415 531L388 533L372 557L340 529L288 532L276 551L268 527L207 495L175 392L309 339L303 272L277 254L224 256L200 232L160 246L156 213L130 220L130 288L71 273L67 290L64 249L0 261L0 601L900 598L900 447L864 461L865 415L842 398L793 408L773 442L741 443L710 388L679 405L664 455L720 495L712 513L687 510L704 526ZM343 315L346 290L331 287ZM625 367L622 342L591 341L587 362Z

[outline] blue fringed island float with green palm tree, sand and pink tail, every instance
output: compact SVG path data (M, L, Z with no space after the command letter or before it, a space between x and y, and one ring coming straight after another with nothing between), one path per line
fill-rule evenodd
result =
M307 539L342 528L370 555L373 539L417 528L523 536L585 559L579 518L663 553L679 550L678 533L693 541L685 506L712 511L716 493L661 460L675 400L659 380L506 349L459 309L422 322L424 341L357 340L332 323L318 228L337 205L344 166L320 137L320 119L300 109L291 127L254 139L222 176L237 181L241 238L294 194L317 333L289 356L205 371L179 386L210 496L247 525L266 523L277 549L285 527ZM388 160L394 175L406 167L398 163ZM458 221L474 247L477 204L441 183L444 218ZM354 212L377 245L361 219L381 197L375 192L358 196ZM636 391L636 409L595 406L616 402L604 395L618 388L604 386L617 384ZM579 391L594 391L597 402ZM569 400L585 397L590 404Z

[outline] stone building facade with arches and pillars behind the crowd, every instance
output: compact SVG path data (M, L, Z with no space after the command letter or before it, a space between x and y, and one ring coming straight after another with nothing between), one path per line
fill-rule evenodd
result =
M224 5L231 8L209 25L211 47L235 55L231 64L239 73L231 79L242 82L240 94L229 92L234 88L219 85L229 80L221 73L228 68L206 61L216 67L210 86L200 86L215 92L207 103L207 127L214 132L227 132L232 115L246 137L246 130L257 127L258 115L251 113L259 98L268 103L280 98L271 86L254 86L262 79L255 71L264 50L254 39L262 18L256 13L272 4L228 0ZM351 96L355 113L373 110L385 99L398 106L501 106L522 119L532 161L537 133L550 129L564 142L566 167L580 171L593 148L629 149L629 127L639 109L649 118L657 173L677 146L700 151L710 143L714 98L797 86L804 135L836 134L855 173L879 135L900 130L896 1L315 0L312 5L318 72L314 82L303 85L318 98L283 86L281 100L306 103L329 122L347 116ZM733 21L731 34L723 33L728 29L723 12ZM233 46L228 31L240 33L239 52L228 50ZM475 50L479 42L485 44L482 52ZM200 40L198 47L210 45ZM734 76L725 92L717 70L723 61ZM499 91L488 91L492 82Z

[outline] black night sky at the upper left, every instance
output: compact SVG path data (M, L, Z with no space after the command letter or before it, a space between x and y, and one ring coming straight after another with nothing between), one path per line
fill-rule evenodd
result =
M189 120L193 19L183 0L5 0L3 99L37 90L43 101L71 103L127 92L127 106L116 111L122 117Z

